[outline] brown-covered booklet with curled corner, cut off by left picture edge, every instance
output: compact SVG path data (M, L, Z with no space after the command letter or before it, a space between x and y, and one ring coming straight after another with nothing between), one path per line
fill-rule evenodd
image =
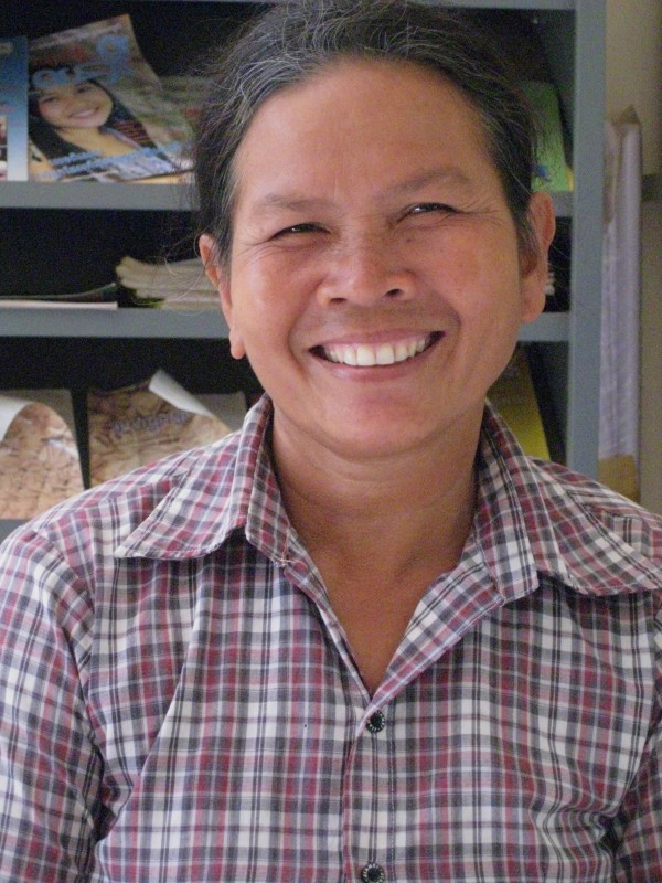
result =
M83 490L71 394L0 393L0 518L28 519Z

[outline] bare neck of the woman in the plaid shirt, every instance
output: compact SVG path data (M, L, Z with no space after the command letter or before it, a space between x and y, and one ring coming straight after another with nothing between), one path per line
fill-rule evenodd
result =
M318 565L361 572L375 562L399 578L457 563L471 529L480 421L453 444L365 461L319 446L301 450L274 432L274 454L288 515Z

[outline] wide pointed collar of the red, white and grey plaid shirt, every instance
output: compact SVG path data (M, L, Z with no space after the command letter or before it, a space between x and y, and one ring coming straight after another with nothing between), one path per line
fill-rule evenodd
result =
M282 562L293 531L271 466L271 414L264 396L239 433L199 451L116 556L193 558L244 531ZM610 530L610 519L627 520L629 504L623 510L620 498L563 467L532 461L489 403L478 479L474 535L504 602L535 591L541 575L591 595L662 587L660 568ZM662 547L662 536L655 542Z

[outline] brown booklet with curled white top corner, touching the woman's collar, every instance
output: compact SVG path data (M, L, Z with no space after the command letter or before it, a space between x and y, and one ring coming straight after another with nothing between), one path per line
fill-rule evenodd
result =
M236 402L232 414L236 424ZM120 390L90 390L87 419L92 485L232 432L164 371Z

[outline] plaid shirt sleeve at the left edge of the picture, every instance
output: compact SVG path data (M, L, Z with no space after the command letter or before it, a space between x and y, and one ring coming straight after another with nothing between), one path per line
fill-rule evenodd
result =
M0 883L82 883L104 827L89 593L29 529L0 547Z

